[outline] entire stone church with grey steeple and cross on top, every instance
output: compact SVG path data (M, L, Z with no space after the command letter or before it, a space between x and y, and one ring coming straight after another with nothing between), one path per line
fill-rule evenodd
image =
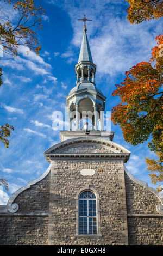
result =
M129 172L130 151L104 130L86 25L75 72L69 130L45 151L45 173L0 205L0 245L163 245L163 198Z

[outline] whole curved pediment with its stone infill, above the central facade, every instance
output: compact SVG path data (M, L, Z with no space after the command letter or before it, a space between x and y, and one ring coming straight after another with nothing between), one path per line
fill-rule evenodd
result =
M121 145L103 139L100 137L81 137L67 139L66 141L55 144L53 147L45 151L46 160L49 162L51 158L61 157L92 157L111 158L119 157L125 158L125 162L129 159L130 151Z

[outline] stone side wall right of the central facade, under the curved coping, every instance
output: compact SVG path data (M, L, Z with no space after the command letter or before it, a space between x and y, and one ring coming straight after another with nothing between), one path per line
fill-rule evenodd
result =
M163 245L160 199L125 174L129 245Z

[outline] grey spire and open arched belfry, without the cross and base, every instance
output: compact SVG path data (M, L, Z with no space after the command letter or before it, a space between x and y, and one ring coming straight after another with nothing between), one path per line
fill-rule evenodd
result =
M76 130L84 130L86 127L90 130L103 131L103 111L106 98L95 84L96 65L92 60L86 35L86 25L84 26L82 47L75 71L76 87L72 88L66 97L66 105L70 111L70 130L72 130L72 121L75 117ZM84 119L86 120L85 123L83 123ZM99 127L97 125L98 120Z

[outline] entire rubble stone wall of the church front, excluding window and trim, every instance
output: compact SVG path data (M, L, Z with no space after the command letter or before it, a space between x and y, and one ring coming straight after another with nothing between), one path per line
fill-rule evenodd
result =
M74 147L72 154L107 152L100 147ZM109 150L108 150L109 151ZM80 170L95 174L82 175ZM78 235L77 194L82 189L98 193L96 236ZM163 245L163 215L159 198L124 172L123 161L53 160L51 172L23 190L11 214L0 208L0 245Z

